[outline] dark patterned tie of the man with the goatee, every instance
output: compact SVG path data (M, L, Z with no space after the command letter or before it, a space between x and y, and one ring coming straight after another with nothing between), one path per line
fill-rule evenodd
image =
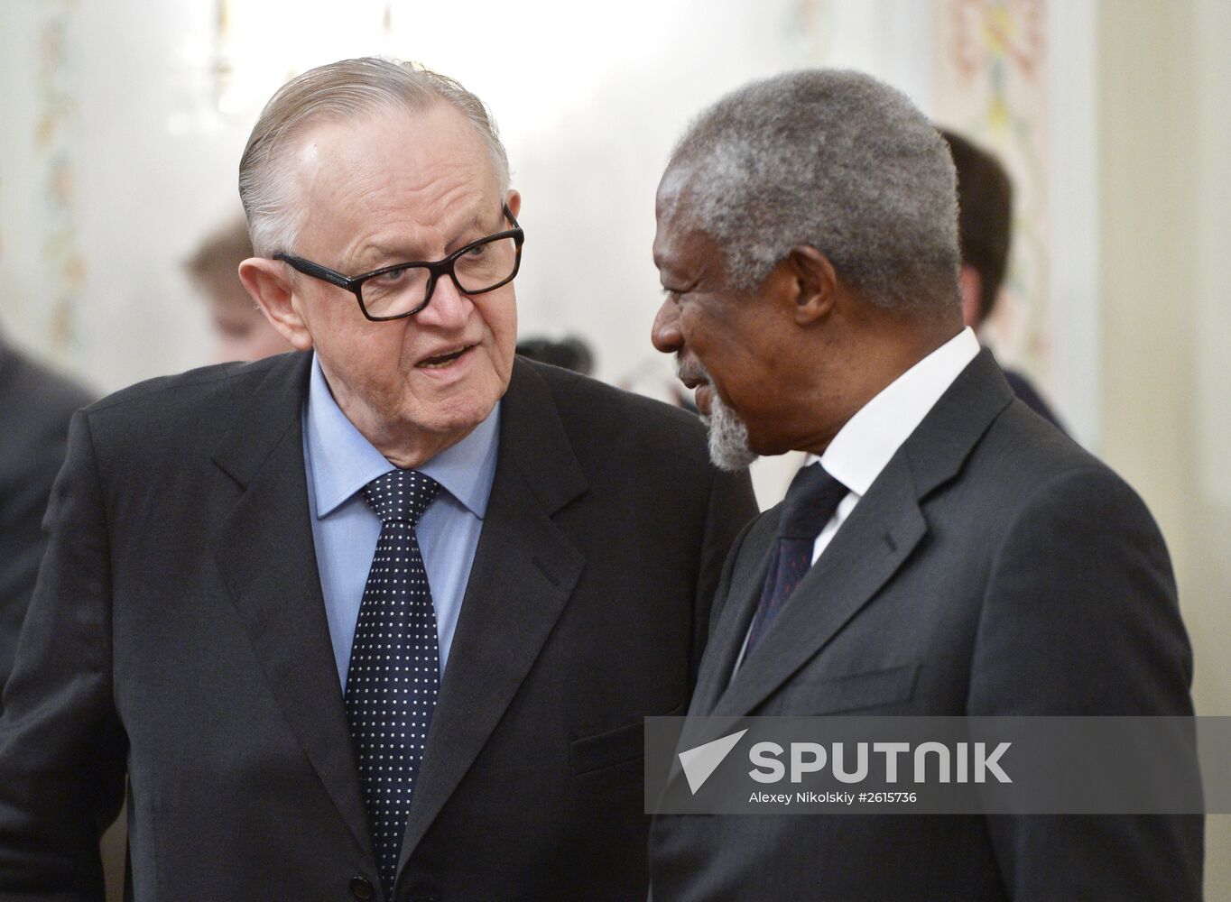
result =
M846 493L847 487L827 474L820 461L805 466L790 481L778 519L773 560L748 630L745 657L752 653L752 647L764 636L783 603L811 569L816 537Z

